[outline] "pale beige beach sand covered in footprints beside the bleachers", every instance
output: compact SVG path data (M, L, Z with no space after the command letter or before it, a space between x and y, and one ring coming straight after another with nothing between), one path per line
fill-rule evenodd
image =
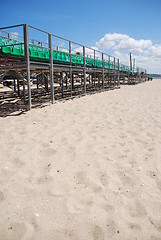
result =
M161 80L0 118L0 240L161 239Z

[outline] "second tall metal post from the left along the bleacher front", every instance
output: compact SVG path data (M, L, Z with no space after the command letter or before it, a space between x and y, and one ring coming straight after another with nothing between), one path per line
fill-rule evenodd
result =
M52 49L52 34L48 34L49 38L49 62L50 62L50 91L51 102L54 103L54 76L53 76L53 49Z

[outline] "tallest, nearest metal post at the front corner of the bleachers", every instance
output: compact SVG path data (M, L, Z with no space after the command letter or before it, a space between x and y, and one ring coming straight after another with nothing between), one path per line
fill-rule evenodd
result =
M23 33L24 33L25 60L26 60L26 68L27 68L28 109L31 110L31 84L30 84L30 58L29 58L28 24L23 25Z

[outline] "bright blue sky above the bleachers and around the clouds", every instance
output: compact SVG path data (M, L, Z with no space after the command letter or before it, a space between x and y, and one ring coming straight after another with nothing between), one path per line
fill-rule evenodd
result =
M159 51L160 55L154 56L154 60L160 61L161 65L160 0L54 0L46 2L41 0L1 0L0 6L1 27L29 23L73 41L88 46L96 46L107 53L116 54L122 58L120 60L124 63L128 61L128 51L132 51L133 56L136 57L136 62L140 63L141 67L146 67L141 54L148 60L151 52L155 55ZM104 42L106 40L109 44L99 44L100 39L104 38L106 34L114 33L121 35L115 35L115 38L112 38L113 46L109 42L113 35L110 37L107 35L104 39ZM121 49L119 48L117 36L120 37L119 43L124 45L124 49L122 49L122 45ZM134 39L135 42L131 39ZM151 40L151 44L140 45L140 42L137 41L141 39ZM143 51L141 52L141 48L138 50L136 46L132 45L131 47L129 44L127 44L129 49L126 48L125 43L128 41L133 42L134 45L139 44ZM138 61L137 56L139 56ZM147 61L147 64L150 64L150 60ZM161 72L159 64L156 67L155 62L153 62L152 65L154 66L147 66L149 72Z

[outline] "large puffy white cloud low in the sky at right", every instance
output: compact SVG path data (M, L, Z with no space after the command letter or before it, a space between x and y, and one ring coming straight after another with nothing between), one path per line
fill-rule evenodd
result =
M104 52L112 50L126 65L129 65L129 52L132 52L137 66L146 68L149 73L161 73L161 44L153 44L149 39L136 40L127 34L108 33L96 42L96 46Z

